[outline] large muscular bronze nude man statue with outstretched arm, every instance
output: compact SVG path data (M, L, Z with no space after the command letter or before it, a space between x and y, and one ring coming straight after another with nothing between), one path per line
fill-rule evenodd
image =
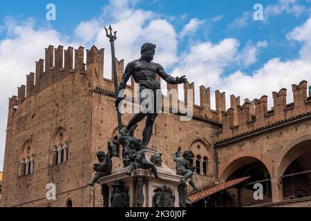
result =
M137 113L133 116L133 118L129 121L129 124L127 124L124 128L122 128L121 133L126 134L129 129L137 124L138 122L142 121L144 117L147 116L146 125L144 127L144 130L142 131L142 142L144 148L147 148L147 145L149 143L149 140L151 138L152 134L152 128L153 123L156 120L156 117L158 115L158 110L156 109L156 90L160 90L160 83L156 80L156 74L158 74L164 81L167 81L168 84L183 84L187 82L186 76L182 77L172 77L171 75L168 75L165 73L164 69L160 64L156 64L152 62L153 55L156 51L156 45L145 43L142 45L142 48L140 50L141 57L140 59L131 61L124 70L124 75L122 77L122 80L120 82L119 89L117 91L117 95L119 95L120 90L124 89L126 86L126 82L129 80L129 77L133 77L135 82L140 85L140 92L144 89L149 89L153 91L153 113ZM162 97L162 95L160 96ZM121 100L124 99L124 97L119 96L115 100L115 106L118 107ZM142 102L146 97L142 97L140 99L140 102ZM159 107L158 107L159 108Z

